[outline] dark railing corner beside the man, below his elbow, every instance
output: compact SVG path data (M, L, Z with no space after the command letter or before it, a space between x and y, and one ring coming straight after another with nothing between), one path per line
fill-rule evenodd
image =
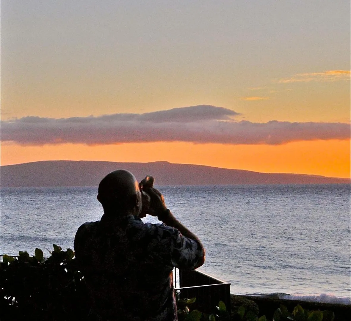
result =
M177 276L177 271L174 273ZM230 283L200 271L179 270L179 287L175 280L176 291L181 299L196 297L192 309L213 313L219 301L223 301L230 311Z

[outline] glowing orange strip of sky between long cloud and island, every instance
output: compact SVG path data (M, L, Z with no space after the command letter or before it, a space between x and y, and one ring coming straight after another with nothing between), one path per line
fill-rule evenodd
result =
M5 143L1 146L1 151L2 165L40 160L163 160L264 173L301 173L350 178L350 140L303 141L278 146L155 142L20 147Z

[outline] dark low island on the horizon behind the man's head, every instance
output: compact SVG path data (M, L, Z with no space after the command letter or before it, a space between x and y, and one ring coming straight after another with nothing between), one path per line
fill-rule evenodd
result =
M39 161L0 166L0 186L98 186L101 178L118 168L129 170L139 181L145 175L152 175L155 177L156 185L350 183L350 179L318 175L258 173L250 170L173 164L165 161L150 163Z

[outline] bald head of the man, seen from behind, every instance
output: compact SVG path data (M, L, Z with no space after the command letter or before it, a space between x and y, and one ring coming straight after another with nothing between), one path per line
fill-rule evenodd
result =
M107 174L100 182L98 200L102 204L105 214L138 215L141 210L138 181L127 170L115 170Z

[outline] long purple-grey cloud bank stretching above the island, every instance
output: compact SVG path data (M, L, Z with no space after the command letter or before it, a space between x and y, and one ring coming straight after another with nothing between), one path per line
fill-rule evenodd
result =
M282 144L299 140L349 139L347 123L236 121L239 113L215 106L175 108L145 114L1 121L1 140L21 145L186 141L224 144Z

